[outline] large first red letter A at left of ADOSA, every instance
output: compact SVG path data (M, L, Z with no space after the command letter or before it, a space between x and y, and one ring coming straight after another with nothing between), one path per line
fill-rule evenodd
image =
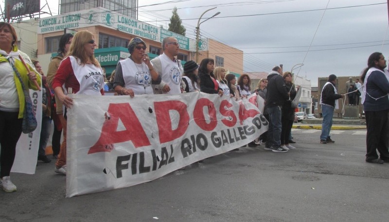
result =
M143 130L134 110L129 103L110 103L108 107L110 120L106 120L101 130L99 140L90 147L88 154L110 152L110 144L132 141L135 148L148 146L150 141ZM116 131L119 120L122 120L125 130Z

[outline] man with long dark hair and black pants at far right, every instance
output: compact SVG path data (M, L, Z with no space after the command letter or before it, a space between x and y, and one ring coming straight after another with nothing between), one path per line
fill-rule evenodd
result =
M389 162L389 76L381 52L374 52L363 71L362 101L366 116L366 162ZM379 158L377 151L380 154Z

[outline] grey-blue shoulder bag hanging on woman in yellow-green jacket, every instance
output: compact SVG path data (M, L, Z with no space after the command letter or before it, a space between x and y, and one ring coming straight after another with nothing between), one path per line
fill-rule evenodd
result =
M24 134L29 134L33 132L38 125L35 118L35 113L33 111L33 102L31 101L29 89L24 85L18 69L16 69L15 65L9 60L9 58L8 61L10 62L12 68L14 69L16 75L18 76L18 79L20 81L24 93L25 106L24 106L24 113L23 113L23 121L21 124L21 131Z

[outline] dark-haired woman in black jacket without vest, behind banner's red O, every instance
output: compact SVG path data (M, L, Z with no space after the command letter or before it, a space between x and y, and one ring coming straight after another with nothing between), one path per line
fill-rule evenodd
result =
M200 91L209 94L223 95L223 90L219 87L213 75L213 59L203 59L198 68L198 78L200 79Z

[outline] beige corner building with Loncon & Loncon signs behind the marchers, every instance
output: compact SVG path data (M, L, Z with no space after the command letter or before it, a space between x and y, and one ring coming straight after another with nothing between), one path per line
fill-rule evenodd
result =
M102 7L70 12L45 18L13 23L20 38L20 50L32 59L38 59L46 73L51 58L57 54L59 39L64 33L88 30L94 34L98 46L95 57L106 69L107 76L116 68L120 58L129 56L127 45L131 38L141 37L147 44L150 58L162 54L162 39L177 38L180 44L178 59L182 64L195 60L195 39L172 33ZM223 66L239 76L243 72L243 51L234 49L212 39L207 39L206 50L200 58L213 58L216 66ZM200 61L201 61L200 59Z

